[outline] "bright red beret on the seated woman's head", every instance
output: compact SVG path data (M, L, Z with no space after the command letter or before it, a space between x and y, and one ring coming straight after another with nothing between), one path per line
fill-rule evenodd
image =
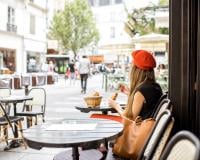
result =
M136 50L132 52L133 64L143 70L156 67L156 61L149 51Z

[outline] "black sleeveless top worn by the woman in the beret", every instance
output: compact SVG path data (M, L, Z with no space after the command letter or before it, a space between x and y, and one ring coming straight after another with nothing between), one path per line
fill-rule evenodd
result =
M162 95L162 89L160 85L154 82L147 82L140 85L136 91L142 93L145 98L145 102L139 115L143 119L152 117L156 110L156 104Z

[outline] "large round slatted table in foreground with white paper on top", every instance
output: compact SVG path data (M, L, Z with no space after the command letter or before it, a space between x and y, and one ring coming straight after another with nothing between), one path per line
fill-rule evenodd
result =
M23 132L28 146L72 148L73 160L79 160L79 147L115 139L123 125L112 120L80 118L46 122Z

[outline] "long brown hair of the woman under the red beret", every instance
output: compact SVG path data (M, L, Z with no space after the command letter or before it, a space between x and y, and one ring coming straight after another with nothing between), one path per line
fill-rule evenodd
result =
M155 82L154 70L153 69L143 70L133 65L130 72L130 92L128 96L127 107L125 110L126 117L133 119L132 104L133 104L135 90L138 86L147 82Z

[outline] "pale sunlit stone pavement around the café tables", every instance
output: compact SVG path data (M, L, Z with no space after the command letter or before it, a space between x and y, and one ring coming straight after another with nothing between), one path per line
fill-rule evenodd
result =
M91 113L81 113L76 110L74 106L81 104L85 105L83 97L93 91L99 91L103 96L102 104L106 104L107 99L114 92L104 91L102 88L101 74L89 78L86 95L81 93L80 80L77 80L75 84L70 84L69 80L65 81L64 78L59 78L56 84L42 87L44 87L47 92L46 121L63 118L89 117ZM24 90L12 90L12 94L24 94ZM126 97L123 94L119 94L118 101L124 102L126 101ZM20 107L21 106L19 106L19 109ZM24 127L24 129L26 128ZM42 148L41 150L34 150L31 148L25 149L24 146L21 146L9 151L3 151L4 147L5 143L1 142L0 160L53 160L56 153L66 150L66 148Z

